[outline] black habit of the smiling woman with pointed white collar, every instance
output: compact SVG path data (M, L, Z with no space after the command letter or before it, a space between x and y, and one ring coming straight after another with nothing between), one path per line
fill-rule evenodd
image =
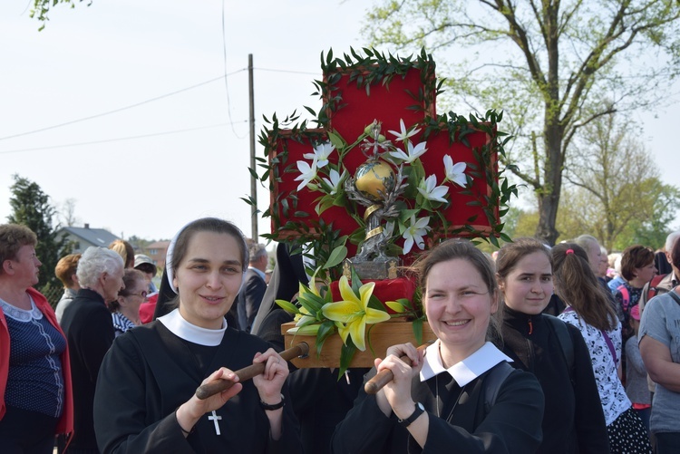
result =
M335 428L333 452L533 452L539 446L543 415L539 382L527 372L513 371L500 386L495 404L486 409L484 379L492 370L463 388L447 372L426 382L421 382L417 375L413 377L413 401L423 403L430 419L424 449L397 422L394 413L386 417L375 396L366 394L362 388L354 408ZM365 379L374 373L375 369Z

